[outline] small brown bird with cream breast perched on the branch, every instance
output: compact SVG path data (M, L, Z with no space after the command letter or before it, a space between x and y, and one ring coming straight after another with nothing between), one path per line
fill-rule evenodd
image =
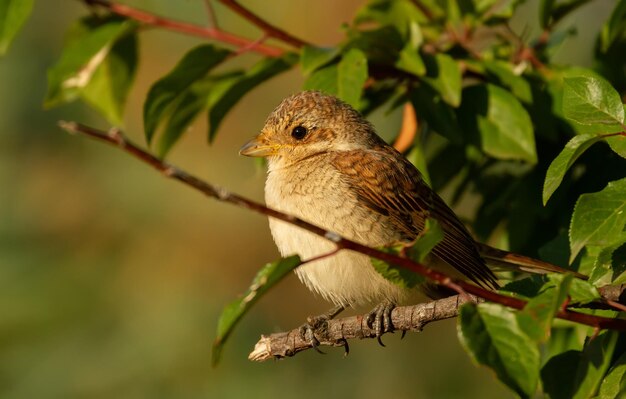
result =
M267 159L268 207L360 244L410 243L432 218L441 226L443 239L423 263L449 276L496 290L499 285L487 265L489 258L520 268L555 270L550 264L476 242L419 170L357 110L335 96L303 91L285 98L240 154ZM285 221L270 217L269 227L282 256L299 254L306 260L334 249L329 240ZM418 294L417 289L387 280L367 255L353 251L322 256L295 272L311 291L335 305L328 313L309 318L303 334L310 340L312 324L347 307L374 305L367 321L375 326L380 342L382 333L393 330L389 317L393 307ZM447 295L434 284L420 288L431 298Z

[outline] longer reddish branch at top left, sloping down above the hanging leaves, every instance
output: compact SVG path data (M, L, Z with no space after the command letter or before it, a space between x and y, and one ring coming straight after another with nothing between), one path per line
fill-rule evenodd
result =
M256 51L257 53L266 55L268 57L279 57L285 53L285 50L268 46L254 41L246 39L241 36L237 36L230 32L226 32L219 29L217 26L205 27L200 25L191 24L188 22L177 21L171 18L165 18L156 14L149 13L147 11L133 8L124 4L115 3L109 0L82 0L87 5L97 6L113 14L123 16L128 19L140 22L144 25L156 26L159 28L167 29L173 32L183 33L186 35L202 37L206 39L217 40L222 43L231 44L238 48L246 48L249 51Z

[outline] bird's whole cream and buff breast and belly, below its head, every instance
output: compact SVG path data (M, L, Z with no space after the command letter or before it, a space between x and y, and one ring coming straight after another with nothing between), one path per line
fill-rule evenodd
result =
M396 239L385 229L384 216L359 204L356 194L330 165L300 165L268 173L265 200L270 208L297 216L326 230L368 246ZM334 244L292 224L270 218L270 230L281 255L310 259L334 249ZM402 290L378 274L369 257L342 251L296 269L309 289L344 306L398 302Z

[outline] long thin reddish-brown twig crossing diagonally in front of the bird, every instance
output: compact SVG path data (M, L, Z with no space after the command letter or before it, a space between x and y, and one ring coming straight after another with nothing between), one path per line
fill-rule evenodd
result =
M249 210L273 217L275 219L285 221L294 226L298 226L302 229L308 230L313 234L324 237L329 241L335 243L339 250L352 250L376 259L380 259L387 263L403 267L417 274L425 276L442 286L450 288L459 294L473 294L487 301L499 303L501 305L514 309L522 309L527 303L525 300L489 291L463 280L452 279L444 273L433 270L411 259L403 258L391 253L383 252L379 249L370 248L368 246L359 244L355 241L344 238L337 233L328 231L292 215L276 211L258 202L252 201L234 193L230 193L221 187L217 187L203 180L200 180L197 177L192 176L187 172L156 158L154 155L146 152L145 150L137 147L135 144L128 141L119 129L111 129L108 132L105 132L99 129L95 129L93 127L81 125L76 122L59 122L59 126L61 126L61 128L63 128L67 132L81 133L100 141L113 144L126 151L127 153L133 155L134 157L138 158L139 160L151 165L153 168L161 171L167 177L185 183L188 186L195 188L196 190L204 193L209 197L215 198L222 202L237 205L242 208L247 208ZM626 320L594 316L584 313L573 312L567 309L563 309L557 312L556 317L601 329L626 331Z

